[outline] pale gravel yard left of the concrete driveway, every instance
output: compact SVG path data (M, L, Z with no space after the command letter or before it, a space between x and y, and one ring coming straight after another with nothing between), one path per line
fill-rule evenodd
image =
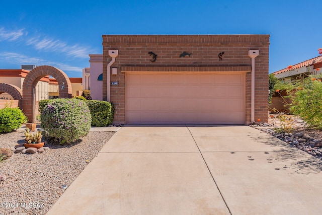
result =
M77 143L57 146L47 143L44 153L15 154L0 162L0 214L46 214L52 205L92 161L114 132L90 131ZM0 135L0 148L23 142L24 132Z

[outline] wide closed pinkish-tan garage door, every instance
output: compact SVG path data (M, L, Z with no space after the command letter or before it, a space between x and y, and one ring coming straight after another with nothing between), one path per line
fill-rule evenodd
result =
M128 124L244 124L244 73L126 73Z

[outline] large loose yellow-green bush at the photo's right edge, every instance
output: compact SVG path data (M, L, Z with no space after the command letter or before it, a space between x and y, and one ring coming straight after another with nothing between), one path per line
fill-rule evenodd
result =
M310 77L296 87L290 110L309 126L322 129L322 82Z

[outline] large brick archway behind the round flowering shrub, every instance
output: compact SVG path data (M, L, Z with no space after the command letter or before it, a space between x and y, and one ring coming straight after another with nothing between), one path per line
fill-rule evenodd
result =
M67 75L60 69L42 65L32 69L25 78L23 84L23 109L29 122L35 122L35 87L38 81L45 77L52 76L59 85L59 98L71 98L71 83Z

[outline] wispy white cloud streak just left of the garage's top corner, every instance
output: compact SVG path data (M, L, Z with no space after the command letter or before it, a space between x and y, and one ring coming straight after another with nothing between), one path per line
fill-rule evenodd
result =
M68 45L60 40L51 38L33 37L27 40L27 45L32 45L39 51L65 53L67 56L89 58L92 49L79 45Z

